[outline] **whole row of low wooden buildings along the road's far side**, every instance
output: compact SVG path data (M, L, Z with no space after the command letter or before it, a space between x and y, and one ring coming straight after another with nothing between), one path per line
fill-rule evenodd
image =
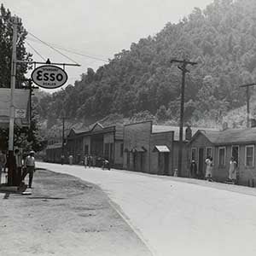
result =
M65 143L65 159L73 155L81 163L84 155L108 159L115 168L172 176L177 170L179 128L153 125L145 121L130 125L104 127L96 123L90 129L72 129ZM182 177L190 177L190 163L195 160L198 177L204 177L207 156L213 158L213 179L224 182L229 175L230 157L238 163L239 183L254 183L256 128L199 129L183 131ZM46 160L61 162L61 144L49 145Z

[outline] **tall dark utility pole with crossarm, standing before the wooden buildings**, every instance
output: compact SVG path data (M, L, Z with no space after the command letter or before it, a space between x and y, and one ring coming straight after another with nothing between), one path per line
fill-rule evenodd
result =
M182 71L182 87L181 87L181 102L180 102L180 119L179 119L179 147L178 147L178 162L177 162L177 176L181 175L183 165L183 115L184 115L184 96L185 96L185 78L186 73L189 70L186 68L187 65L196 65L196 62L192 61L180 61L172 59L171 63L180 63L181 66L177 66Z

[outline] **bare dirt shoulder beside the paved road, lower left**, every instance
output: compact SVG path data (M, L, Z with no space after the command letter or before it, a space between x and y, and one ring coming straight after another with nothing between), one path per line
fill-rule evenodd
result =
M0 255L152 255L96 185L38 170L33 187L0 193Z

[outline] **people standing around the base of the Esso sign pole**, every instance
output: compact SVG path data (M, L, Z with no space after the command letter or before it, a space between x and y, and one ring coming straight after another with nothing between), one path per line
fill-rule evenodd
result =
M29 175L29 182L28 187L32 188L32 179L33 179L33 173L35 172L35 152L30 151L29 154L23 158L20 149L16 148L14 152L14 175L10 177L11 179L14 179L12 183L15 183L15 185L20 186L22 183L24 183L25 177L27 174ZM6 172L8 169L8 157L5 154L4 151L0 152L0 184L2 183L2 172Z

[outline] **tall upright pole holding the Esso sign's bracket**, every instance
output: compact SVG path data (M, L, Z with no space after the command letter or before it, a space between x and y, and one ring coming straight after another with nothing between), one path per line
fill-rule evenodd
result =
M8 184L14 185L15 157L14 157L14 133L15 133L15 83L16 83L16 64L17 64L17 28L18 17L13 18L13 44L11 61L11 81L10 81L10 105L9 105L9 170Z

